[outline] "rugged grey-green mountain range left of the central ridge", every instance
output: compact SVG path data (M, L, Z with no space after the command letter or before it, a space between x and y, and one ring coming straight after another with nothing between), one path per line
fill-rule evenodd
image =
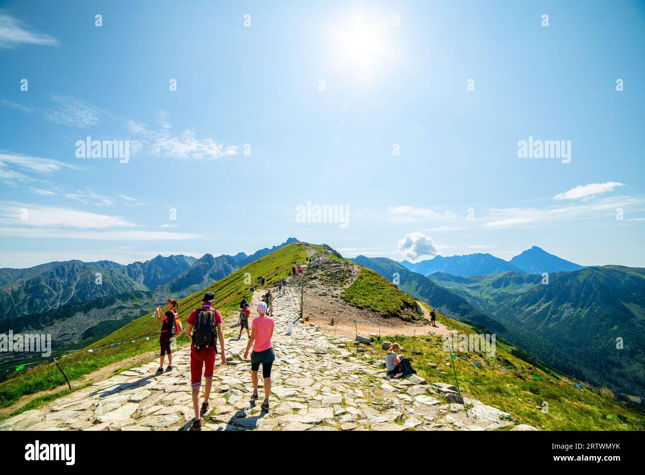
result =
M159 290L181 298L227 276L233 270L297 241L263 248L250 256L204 254L157 256L123 265L112 261L62 261L35 267L0 269L0 319L46 312L71 303L132 291Z

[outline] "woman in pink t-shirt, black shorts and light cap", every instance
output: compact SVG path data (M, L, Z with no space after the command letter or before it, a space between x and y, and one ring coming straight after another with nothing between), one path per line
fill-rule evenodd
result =
M251 381L253 383L253 399L257 399L257 372L262 364L262 377L264 379L264 402L261 405L262 410L269 410L269 394L271 392L271 367L275 359L275 352L271 338L273 336L273 319L266 316L266 303L257 304L257 317L251 324L251 338L246 344L244 359L248 358L248 350L253 345L251 353Z

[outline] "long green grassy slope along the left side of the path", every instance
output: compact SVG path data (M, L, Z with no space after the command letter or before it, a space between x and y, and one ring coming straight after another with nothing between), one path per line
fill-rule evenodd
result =
M277 279L288 275L296 259L304 262L307 255L308 250L301 243L292 243L279 248L268 256L239 268L210 287L181 299L179 301L179 316L186 322L190 312L201 305L201 299L204 292L207 291L215 294L213 305L223 316L231 314L237 308L241 298L245 294L250 295L251 293L249 292L250 285L244 283L245 278L248 277L247 272L252 279L252 284L258 286L259 279L264 277L267 284L270 285ZM165 305L165 301L160 301L158 305ZM104 347L103 349L90 353L87 351L88 347L61 359L61 367L67 377L74 381L82 378L85 374L122 359L158 349L160 325L156 319L152 318L152 310L150 308L150 312L147 312L143 317L135 319L92 345L92 349ZM146 337L149 339L146 340ZM136 341L132 343L132 339L136 339ZM111 345L114 343L119 344L112 347ZM182 336L178 343L188 343L188 339ZM26 394L53 389L63 383L63 375L54 364L38 365L26 372L15 372L12 378L0 383L0 407L11 405Z

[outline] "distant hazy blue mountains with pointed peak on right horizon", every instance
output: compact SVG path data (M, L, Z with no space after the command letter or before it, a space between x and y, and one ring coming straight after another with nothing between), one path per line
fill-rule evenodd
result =
M504 259L496 258L488 253L477 252L464 256L436 256L433 259L417 263L401 261L401 265L424 276L430 276L435 272L445 272L452 276L462 277L508 271L542 274L542 272L579 270L584 267L554 256L537 246L525 250L510 261L504 261Z

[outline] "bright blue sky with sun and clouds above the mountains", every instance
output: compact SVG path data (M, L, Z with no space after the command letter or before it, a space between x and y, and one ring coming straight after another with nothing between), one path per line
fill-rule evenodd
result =
M0 267L288 236L645 267L644 45L628 1L2 2ZM77 157L87 136L128 162Z

